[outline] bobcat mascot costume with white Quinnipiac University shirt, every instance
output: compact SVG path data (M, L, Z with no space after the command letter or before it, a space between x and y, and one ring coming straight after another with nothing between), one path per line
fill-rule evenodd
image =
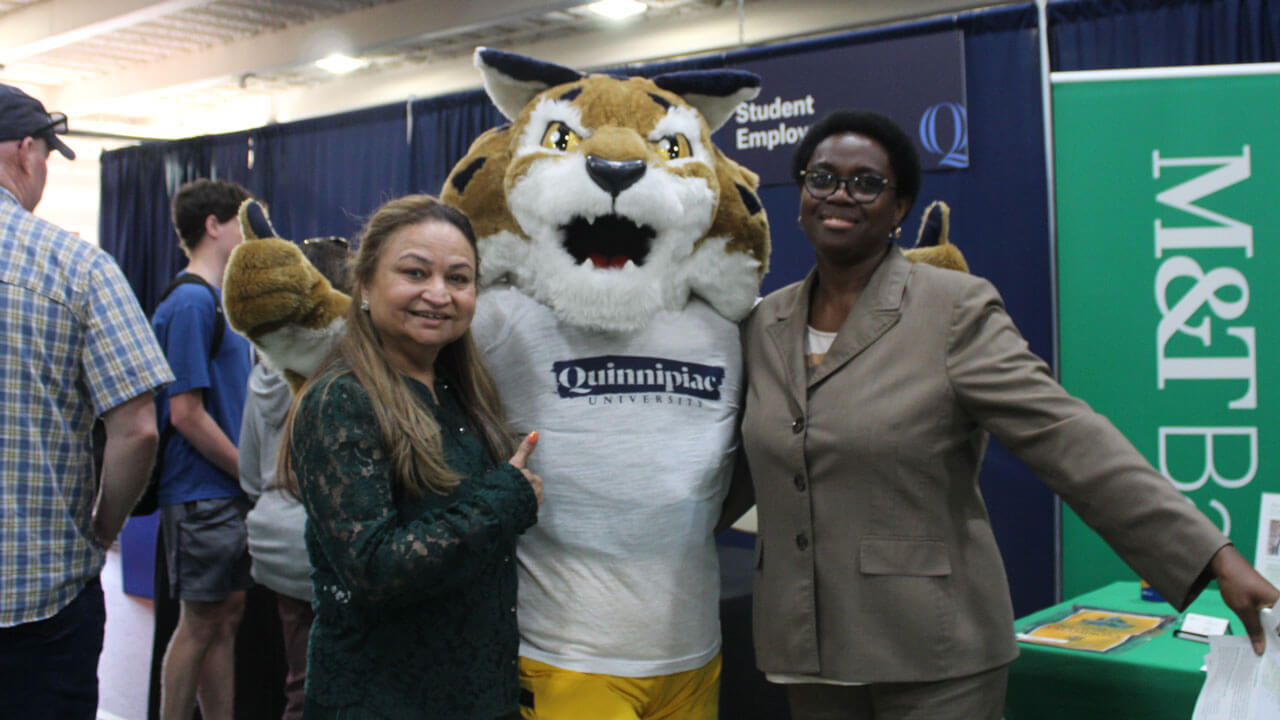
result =
M713 528L736 451L737 322L769 245L755 174L710 133L759 78L584 76L489 49L475 61L511 123L475 141L442 200L479 238L472 331L511 425L540 436L545 500L517 553L525 714L613 717L618 702L648 716L662 708L637 696L671 692L682 700L658 715L716 717ZM242 222L228 319L297 387L349 300L261 206ZM653 684L671 678L681 687Z

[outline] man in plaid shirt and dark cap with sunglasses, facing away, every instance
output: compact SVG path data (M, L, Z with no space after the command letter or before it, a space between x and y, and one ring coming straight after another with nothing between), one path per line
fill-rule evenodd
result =
M99 574L173 382L110 255L32 214L67 117L0 83L0 717L97 716ZM101 479L91 430L106 425Z

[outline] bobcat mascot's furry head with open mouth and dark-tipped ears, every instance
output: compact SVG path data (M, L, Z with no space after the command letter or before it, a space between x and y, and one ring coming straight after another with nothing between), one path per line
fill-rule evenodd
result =
M511 124L471 146L442 199L475 222L481 286L506 279L603 331L690 293L732 320L751 309L769 254L758 178L710 133L756 76L582 76L484 47L475 60Z

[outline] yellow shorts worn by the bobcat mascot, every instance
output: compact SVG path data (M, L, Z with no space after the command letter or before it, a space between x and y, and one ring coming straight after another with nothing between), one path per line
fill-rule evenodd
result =
M575 673L520 659L524 720L716 720L721 656L698 667L653 678Z

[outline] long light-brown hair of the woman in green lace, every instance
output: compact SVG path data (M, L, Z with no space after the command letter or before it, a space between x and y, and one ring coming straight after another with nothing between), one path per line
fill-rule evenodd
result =
M347 332L338 347L298 391L285 420L279 475L294 496L298 495L298 478L293 474L289 460L294 414L308 392L344 373L351 373L369 393L383 443L389 450L392 486L401 496L417 498L426 492L448 495L462 480L444 461L439 424L406 378L387 360L369 313L362 311L355 300L362 297L364 290L372 283L387 240L401 228L421 223L445 223L457 228L476 255L479 278L480 255L476 251L475 232L462 211L430 195L407 195L387 202L374 213L361 234L360 251L351 272L352 302L347 310ZM498 462L511 457L515 441L503 419L498 387L480 359L470 328L440 350L435 368L458 388L467 419L484 439L490 460Z

